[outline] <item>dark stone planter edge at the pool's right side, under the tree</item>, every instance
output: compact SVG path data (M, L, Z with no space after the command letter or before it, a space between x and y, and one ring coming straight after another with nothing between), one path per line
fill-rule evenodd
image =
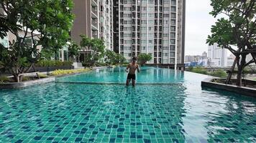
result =
M221 79L218 77L213 78L206 78L201 82L201 87L209 87L214 89L221 89L228 92L234 92L237 94L246 95L248 97L255 97L256 98L256 89L250 87L240 87L231 84L221 84L217 82L212 82L213 79Z

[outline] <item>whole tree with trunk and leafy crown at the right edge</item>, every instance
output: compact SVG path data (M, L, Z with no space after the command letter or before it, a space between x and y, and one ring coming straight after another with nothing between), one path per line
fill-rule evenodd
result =
M241 86L244 67L256 63L256 49L253 48L256 42L255 0L211 0L211 6L212 16L224 14L225 18L217 19L211 27L212 34L208 36L206 43L217 43L236 56L234 62L238 69L237 86ZM246 61L248 54L253 57L249 62Z

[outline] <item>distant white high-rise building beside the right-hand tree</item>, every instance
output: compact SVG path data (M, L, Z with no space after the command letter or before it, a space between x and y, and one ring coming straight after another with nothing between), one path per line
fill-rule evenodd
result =
M227 49L223 49L214 44L208 46L208 58L211 60L210 66L227 66Z

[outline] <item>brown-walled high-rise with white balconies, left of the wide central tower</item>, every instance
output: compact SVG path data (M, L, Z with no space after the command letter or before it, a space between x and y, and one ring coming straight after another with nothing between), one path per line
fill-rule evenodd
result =
M106 49L112 50L112 1L73 0L75 20L70 31L71 39L80 43L81 34L103 39Z

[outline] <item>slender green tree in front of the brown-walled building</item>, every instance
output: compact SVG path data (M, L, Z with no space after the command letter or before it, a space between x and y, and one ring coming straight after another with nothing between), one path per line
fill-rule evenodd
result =
M96 61L104 57L104 41L101 39L90 39L86 35L81 35L81 47L91 51L89 61L91 65L95 65Z

